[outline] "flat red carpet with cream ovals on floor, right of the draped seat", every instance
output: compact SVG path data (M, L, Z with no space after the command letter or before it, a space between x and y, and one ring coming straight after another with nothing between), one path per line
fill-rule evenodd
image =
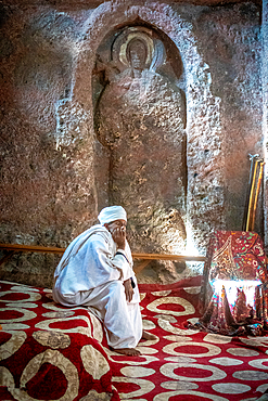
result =
M144 327L158 338L139 358L107 350L122 400L254 401L268 388L268 337L232 338L187 329L200 286L140 285Z

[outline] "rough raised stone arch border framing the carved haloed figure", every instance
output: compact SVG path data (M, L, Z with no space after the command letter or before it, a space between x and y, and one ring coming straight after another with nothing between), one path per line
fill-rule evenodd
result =
M224 171L218 169L209 171L209 174L207 174L207 168L212 165L215 155L217 160L222 159L220 100L213 96L210 92L209 67L204 63L202 54L199 52L197 40L193 35L191 24L184 21L179 12L175 12L170 5L166 3L140 5L136 1L130 1L126 5L112 1L104 2L92 12L85 24L84 40L79 43L77 50L77 64L71 96L59 102L56 106L58 119L60 120L62 115L67 115L68 121L72 122L69 125L64 122L61 126L63 131L58 131L58 142L60 145L61 143L67 144L66 140L69 138L77 138L77 131L81 132L82 137L87 135L90 139L88 141L88 143L90 142L88 155L94 158L92 172L97 193L95 209L98 210L110 202L116 200L116 197L109 199L110 185L113 180L111 181L105 176L107 169L111 171L109 165L111 161L110 150L103 144L100 146L94 125L95 105L105 85L103 86L98 77L98 93L92 76L95 74L98 51L106 42L107 37L110 38L111 35L112 38L112 33L117 29L122 30L125 27L136 27L138 25L153 29L163 42L165 42L165 38L168 38L169 43L173 43L173 50L176 48L176 52L181 59L181 66L183 65L182 74L179 74L179 77L175 74L174 82L176 82L180 92L184 94L187 117L183 121L187 174L184 176L184 184L181 185L184 193L184 205L180 205L179 208L184 212L183 217L179 216L186 231L182 246L186 246L187 253L205 253L209 232L213 228L217 229L225 223L224 194L222 191L219 191L224 186ZM165 48L166 51L167 48ZM178 63L178 60L173 60L173 63ZM170 61L168 68L174 72L176 68L174 68L173 63ZM79 112L79 115L77 112ZM80 129L77 130L77 127L80 127ZM208 148L209 152L207 152ZM180 197L180 199L182 198L183 196ZM157 203L156 198L154 198L154 203ZM174 207L175 218L177 206ZM150 209L148 210L151 214ZM139 216L139 209L136 210L136 215ZM170 215L170 219L173 218ZM157 214L154 215L155 227L161 225L161 219ZM139 221L133 221L133 227L137 228L137 233L139 233ZM149 231L145 227L142 230L145 237ZM167 235L171 233L168 227L166 232ZM132 240L135 243L135 236ZM176 246L177 243L180 244L180 241L174 242ZM144 241L142 244L142 246L144 245L143 250L146 250L146 241ZM149 242L149 244L151 243ZM171 245L167 246L166 249L176 251L178 249L176 246L174 248L171 242ZM159 249L157 250L159 251ZM174 275L176 275L176 269L173 270ZM177 272L181 273L180 276L189 274L187 270L181 268L177 269ZM165 273L163 274L165 275ZM162 272L157 275L161 279Z

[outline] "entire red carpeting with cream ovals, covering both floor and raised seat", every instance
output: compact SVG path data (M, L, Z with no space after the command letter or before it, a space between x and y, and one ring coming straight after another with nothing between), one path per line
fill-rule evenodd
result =
M268 336L188 329L200 277L140 285L140 357L112 352L85 308L54 305L50 289L0 282L0 400L255 401L268 389Z

